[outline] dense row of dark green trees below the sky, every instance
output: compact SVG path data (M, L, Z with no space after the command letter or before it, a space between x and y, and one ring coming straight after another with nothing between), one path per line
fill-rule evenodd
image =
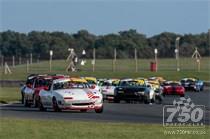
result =
M49 58L49 51L53 50L54 59L66 58L68 48L74 48L79 56L86 50L86 58L92 58L92 50L96 50L96 58L113 58L114 49L117 58L133 58L134 49L139 58L154 57L154 49L158 49L158 57L174 57L175 40L180 37L180 56L190 57L198 48L201 56L209 56L208 33L176 34L163 32L152 37L137 32L134 29L120 31L106 35L94 35L87 30L69 34L64 32L31 31L19 33L15 31L0 32L0 54L5 57L33 56L41 59Z

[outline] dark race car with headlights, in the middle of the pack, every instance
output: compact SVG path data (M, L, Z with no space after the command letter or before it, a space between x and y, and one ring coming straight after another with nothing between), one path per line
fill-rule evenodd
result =
M155 92L150 86L142 85L137 80L124 79L119 82L114 92L114 102L119 103L121 100L152 103L155 101Z

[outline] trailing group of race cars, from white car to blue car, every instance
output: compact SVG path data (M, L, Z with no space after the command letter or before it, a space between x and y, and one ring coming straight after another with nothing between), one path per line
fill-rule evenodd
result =
M166 81L162 77L136 79L105 79L99 81L103 99L119 103L141 101L144 103L161 103L164 96L178 95L184 97L186 90L202 91L203 81L196 78L183 78L178 81Z

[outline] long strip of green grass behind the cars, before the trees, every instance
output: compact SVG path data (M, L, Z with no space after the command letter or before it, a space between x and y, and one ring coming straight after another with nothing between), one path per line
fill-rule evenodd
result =
M91 60L87 61L85 66L78 66L81 71L69 73L71 76L95 76L98 78L128 78L128 77L150 77L163 76L168 80L180 80L183 77L198 77L203 80L210 80L210 58L205 57L201 60L201 70L198 72L195 61L192 58L180 59L180 72L176 71L175 59L159 59L158 72L150 71L150 62L152 59L139 59L138 72L135 72L135 61L133 59L117 59L116 70L113 72L112 60L96 60L95 72L92 71ZM51 73L66 74L67 63L64 60L54 60L52 62ZM18 65L12 68L11 75L4 75L1 72L2 79L25 80L29 73L49 73L49 62L42 61L30 66L29 73L26 72L26 65Z

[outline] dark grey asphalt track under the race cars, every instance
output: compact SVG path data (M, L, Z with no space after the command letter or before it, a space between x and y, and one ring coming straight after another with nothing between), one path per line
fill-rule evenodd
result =
M210 92L187 92L195 105L205 105L205 123L209 124L210 118ZM0 117L15 117L26 119L51 119L51 120L77 120L77 121L97 121L97 122L129 122L129 123L159 123L163 122L164 105L172 105L174 99L179 97L169 96L163 104L128 104L121 102L104 103L104 112L97 114L94 111L81 113L78 111L53 112L48 109L41 112L38 108L26 108L23 104L12 103L0 105Z

